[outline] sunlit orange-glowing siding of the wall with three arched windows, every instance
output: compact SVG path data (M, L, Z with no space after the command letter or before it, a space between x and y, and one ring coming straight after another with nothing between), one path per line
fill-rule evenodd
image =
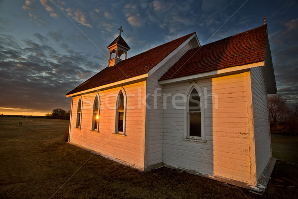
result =
M71 118L70 142L112 158L144 169L145 97L146 81L123 86L126 92L126 135L115 133L116 98L121 87L99 91L99 131L92 131L93 102L96 93L82 95L82 128L76 125L77 104L80 96L74 97Z

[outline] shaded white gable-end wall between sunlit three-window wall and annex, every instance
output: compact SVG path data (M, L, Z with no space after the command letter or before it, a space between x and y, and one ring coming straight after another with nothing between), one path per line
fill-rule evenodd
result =
M186 44L170 60L147 78L146 91L146 166L162 163L163 161L163 95L162 86L158 80L173 66L189 49ZM156 95L154 94L154 91Z

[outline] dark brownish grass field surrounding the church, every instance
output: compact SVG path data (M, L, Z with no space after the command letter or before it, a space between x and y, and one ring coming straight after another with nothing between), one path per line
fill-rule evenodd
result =
M284 161L277 161L260 196L177 170L144 173L92 155L64 142L68 122L0 117L1 199L298 198L297 136L272 137L273 156Z

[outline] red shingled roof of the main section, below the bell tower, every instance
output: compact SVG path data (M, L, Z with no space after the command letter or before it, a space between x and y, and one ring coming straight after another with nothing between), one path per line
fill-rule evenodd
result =
M116 66L106 67L66 95L146 74L193 34L185 35L123 60Z

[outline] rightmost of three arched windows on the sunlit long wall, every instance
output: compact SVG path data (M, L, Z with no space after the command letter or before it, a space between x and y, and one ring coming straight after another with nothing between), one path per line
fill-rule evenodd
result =
M116 131L115 133L125 134L125 101L122 91L117 98L116 106Z

